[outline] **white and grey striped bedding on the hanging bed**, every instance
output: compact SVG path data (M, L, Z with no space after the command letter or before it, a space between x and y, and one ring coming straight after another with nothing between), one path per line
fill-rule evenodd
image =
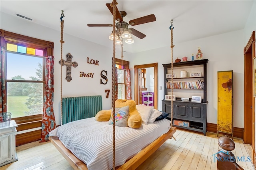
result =
M167 119L142 124L138 129L116 126L116 166L120 166L170 129ZM112 126L87 118L69 122L50 132L82 160L88 170L112 169Z

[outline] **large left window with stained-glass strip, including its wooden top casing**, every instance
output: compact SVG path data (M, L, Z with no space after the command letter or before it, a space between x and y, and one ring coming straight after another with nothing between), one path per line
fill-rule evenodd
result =
M50 43L1 30L7 111L12 118L43 113L45 56L53 53Z

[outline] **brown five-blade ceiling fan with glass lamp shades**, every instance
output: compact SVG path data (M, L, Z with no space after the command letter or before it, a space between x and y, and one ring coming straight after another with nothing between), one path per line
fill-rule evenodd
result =
M110 12L113 14L113 7L110 6L110 4L106 4L106 6L108 7L108 9L110 10ZM153 22L156 21L156 17L154 14L150 14L147 16L143 16L140 18L136 18L134 20L130 20L129 23L123 21L123 18L126 16L126 12L125 11L118 11L117 7L116 7L116 20L118 21L116 23L116 32L122 36L123 38L130 38L128 36L128 34L126 34L126 31L128 31L129 33L133 34L134 36L142 39L144 37L146 37L145 34L143 34L142 32L139 32L138 30L135 30L134 28L128 28L129 25L131 26L135 26L135 25L139 25L139 24L145 24L148 22ZM87 26L89 27L97 27L97 26L113 26L113 24L87 24Z

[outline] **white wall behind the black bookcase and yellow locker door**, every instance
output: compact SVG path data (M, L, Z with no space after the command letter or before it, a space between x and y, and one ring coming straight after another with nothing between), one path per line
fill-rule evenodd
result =
M178 29L178 28L176 28ZM175 30L173 32L175 34ZM165 48L158 48L132 54L130 58L130 67L139 64L149 64L158 62L158 109L162 110L162 99L164 98L164 89L159 90L159 86L164 85L164 70L162 64L171 62L170 44ZM190 42L176 44L174 39L173 55L174 60L188 57L191 60L191 54L196 54L198 47L201 47L203 58L208 58L207 64L207 99L208 99L208 117L207 122L217 123L217 72L224 70L233 70L234 73L234 126L244 127L244 31L238 30L217 36L206 37ZM145 62L147 61L147 62ZM134 89L134 86L132 87Z

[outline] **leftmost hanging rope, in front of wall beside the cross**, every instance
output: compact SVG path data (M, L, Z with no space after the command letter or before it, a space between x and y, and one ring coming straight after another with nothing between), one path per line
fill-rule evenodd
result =
M64 10L61 11L61 16L60 16L60 43L61 43L61 50L60 50L60 125L62 125L62 44L65 42L63 41L63 28L64 28Z

